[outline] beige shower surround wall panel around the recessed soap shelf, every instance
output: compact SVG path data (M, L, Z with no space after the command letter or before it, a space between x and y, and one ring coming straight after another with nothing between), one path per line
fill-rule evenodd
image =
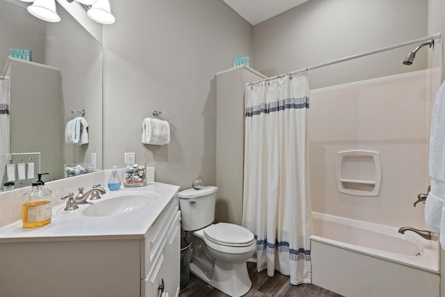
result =
M314 211L380 225L425 228L424 204L413 207L413 203L429 184L426 131L432 98L428 89L438 80L430 72L437 73L421 70L311 91L311 180L317 181L311 187ZM380 155L378 196L337 190L338 153L357 149Z

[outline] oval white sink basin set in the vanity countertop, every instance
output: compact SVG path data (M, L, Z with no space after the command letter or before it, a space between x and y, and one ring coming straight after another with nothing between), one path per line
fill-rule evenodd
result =
M98 200L82 211L84 216L115 216L127 214L159 201L155 193L133 193L118 195L114 198Z

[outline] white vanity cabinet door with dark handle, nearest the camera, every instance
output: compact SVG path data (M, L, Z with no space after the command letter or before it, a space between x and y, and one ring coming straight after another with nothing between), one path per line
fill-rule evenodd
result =
M168 275L168 259L165 257L164 251L155 262L156 268L150 273L145 280L141 280L140 295L141 297L166 297L168 296L169 275ZM163 288L163 289L162 289ZM170 294L169 294L170 295Z

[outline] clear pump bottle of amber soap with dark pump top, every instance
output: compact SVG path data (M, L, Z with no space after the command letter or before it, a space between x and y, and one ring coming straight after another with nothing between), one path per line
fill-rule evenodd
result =
M41 227L51 223L51 191L44 188L42 175L38 173L38 181L32 183L31 191L24 193L22 204L22 222L24 228Z

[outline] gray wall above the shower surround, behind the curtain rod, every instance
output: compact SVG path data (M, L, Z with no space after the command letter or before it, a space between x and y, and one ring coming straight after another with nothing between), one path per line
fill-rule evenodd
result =
M253 29L254 67L268 76L427 35L425 0L311 0ZM425 51L402 65L411 47L310 72L314 88L426 67Z

